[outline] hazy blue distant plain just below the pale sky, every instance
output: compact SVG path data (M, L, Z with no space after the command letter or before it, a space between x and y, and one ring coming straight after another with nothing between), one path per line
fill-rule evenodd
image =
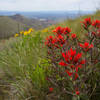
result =
M0 15L12 16L16 14L23 15L27 18L34 18L38 20L53 20L59 21L67 18L75 18L80 15L91 14L93 11L33 11L33 12L21 12L21 11L0 11Z

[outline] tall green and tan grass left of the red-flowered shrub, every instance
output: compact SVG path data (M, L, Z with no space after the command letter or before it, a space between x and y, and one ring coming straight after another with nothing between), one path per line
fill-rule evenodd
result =
M38 98L34 97L40 95L37 91L46 87L46 65L43 63L46 62L46 48L42 47L42 42L43 39L37 32L35 35L16 38L0 53L0 66L5 75L3 80L10 86L10 97L31 100Z

